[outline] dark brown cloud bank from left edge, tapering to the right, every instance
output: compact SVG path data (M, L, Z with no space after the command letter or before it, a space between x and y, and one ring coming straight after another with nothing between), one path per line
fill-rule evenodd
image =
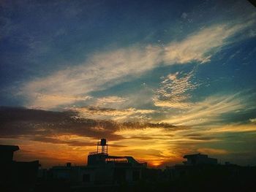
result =
M94 111L94 110L93 110ZM105 109L102 110L105 112ZM99 111L96 111L99 112ZM112 112L107 110L107 112ZM113 110L113 112L116 112ZM165 128L176 130L180 127L168 123L139 123L124 122L118 123L114 120L97 120L90 118L77 118L77 112L52 112L44 110L30 110L17 107L0 107L0 137L45 140L52 143L66 143L68 145L84 145L81 139L88 140L106 137L112 140L123 138L116 134L116 131L126 128ZM62 136L68 136L63 138ZM82 137L82 138L81 138ZM74 139L75 138L75 139ZM83 140L84 141L84 140Z

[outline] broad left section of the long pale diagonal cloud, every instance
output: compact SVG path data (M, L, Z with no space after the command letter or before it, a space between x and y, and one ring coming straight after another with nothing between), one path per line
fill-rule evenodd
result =
M48 105L46 95L87 96L91 91L109 88L129 80L159 63L159 47L134 46L107 53L95 53L85 64L56 72L48 77L26 83L22 94L29 98L29 106ZM58 106L61 102L56 104ZM32 103L32 104L31 104ZM44 104L45 103L45 104ZM70 101L72 103L72 101Z

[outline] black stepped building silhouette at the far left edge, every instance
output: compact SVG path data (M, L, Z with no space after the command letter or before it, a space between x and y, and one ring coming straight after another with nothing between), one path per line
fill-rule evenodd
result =
M13 161L18 146L0 145L1 191L32 191L37 180L39 161Z

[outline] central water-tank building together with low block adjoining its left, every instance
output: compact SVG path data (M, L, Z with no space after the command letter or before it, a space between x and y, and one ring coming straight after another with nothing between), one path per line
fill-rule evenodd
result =
M132 156L108 155L106 139L97 142L97 151L88 155L87 166L53 166L50 175L56 180L68 180L82 185L133 183L140 180L146 163Z

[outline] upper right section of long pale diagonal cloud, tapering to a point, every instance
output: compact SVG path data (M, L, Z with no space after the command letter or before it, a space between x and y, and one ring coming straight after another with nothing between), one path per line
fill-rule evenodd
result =
M246 23L236 23L233 26L220 24L201 28L181 42L170 42L165 47L163 61L165 64L187 64L190 61L198 61L203 64L211 61L211 56L214 53L230 44L230 41L227 40L229 37L252 26L253 23L253 20L248 20Z

